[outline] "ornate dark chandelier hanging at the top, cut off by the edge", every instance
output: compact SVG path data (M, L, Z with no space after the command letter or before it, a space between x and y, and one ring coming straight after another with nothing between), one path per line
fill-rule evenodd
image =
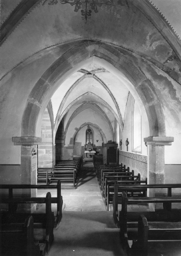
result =
M58 0L45 0L43 4L45 4L46 1L49 1L49 5L58 3ZM85 23L87 23L87 19L91 18L92 10L97 13L98 6L101 7L103 4L111 5L113 3L113 0L59 0L59 2L62 4L69 3L72 6L75 5L74 11L76 12L81 9L82 19L85 19Z

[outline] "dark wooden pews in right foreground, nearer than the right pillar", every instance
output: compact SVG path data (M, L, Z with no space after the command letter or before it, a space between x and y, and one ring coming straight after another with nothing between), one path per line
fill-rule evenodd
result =
M119 186L118 184L116 186ZM129 240L133 240L132 250L139 255L148 255L148 240L181 240L181 210L173 209L172 203L181 202L181 196L172 196L172 188L181 188L181 184L125 185L121 201L114 195L114 218L119 223L121 242L125 251L129 251ZM128 197L127 189L168 188L168 196ZM115 188L116 190L116 188ZM117 211L116 203L121 202L121 210ZM128 211L128 204L163 203L163 208L156 211Z

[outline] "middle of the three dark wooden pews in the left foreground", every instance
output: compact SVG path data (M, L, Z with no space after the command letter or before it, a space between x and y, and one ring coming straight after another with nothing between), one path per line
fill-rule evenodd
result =
M2 198L2 203L18 204L18 203L45 203L45 213L31 213L33 217L33 233L35 240L39 240L40 243L45 244L46 252L48 253L51 244L54 239L53 228L54 228L54 213L51 211L51 193L47 192L46 198L44 197L23 197L23 198ZM2 223L8 222L10 219L11 223L20 223L22 219L29 216L30 213L26 212L3 212L1 214Z

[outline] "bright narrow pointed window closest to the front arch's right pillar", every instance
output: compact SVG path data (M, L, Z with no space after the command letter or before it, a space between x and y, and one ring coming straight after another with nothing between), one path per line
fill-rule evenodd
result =
M133 103L133 149L134 152L142 152L142 116L136 101Z

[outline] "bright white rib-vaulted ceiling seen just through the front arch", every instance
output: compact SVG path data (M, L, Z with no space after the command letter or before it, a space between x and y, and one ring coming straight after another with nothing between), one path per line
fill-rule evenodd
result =
M55 132L62 118L65 128L73 119L72 116L77 115L75 113L86 108L106 116L112 129L115 118L122 126L128 92L124 81L97 63L92 62L82 67L65 80L51 98Z

